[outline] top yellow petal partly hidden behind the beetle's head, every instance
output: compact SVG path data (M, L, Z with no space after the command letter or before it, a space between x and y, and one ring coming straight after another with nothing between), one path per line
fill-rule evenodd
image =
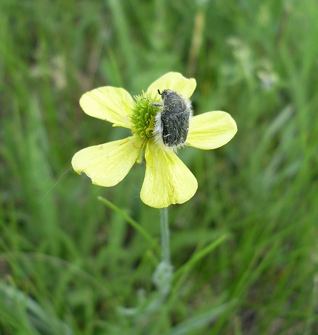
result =
M194 78L187 79L178 72L168 72L159 79L155 80L147 90L154 99L158 97L158 90L173 90L179 92L184 98L189 99L197 86Z

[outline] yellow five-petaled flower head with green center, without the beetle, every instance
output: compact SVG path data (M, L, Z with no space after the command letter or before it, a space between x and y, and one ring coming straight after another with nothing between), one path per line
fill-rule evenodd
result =
M77 152L72 165L85 173L95 185L114 186L127 175L145 150L146 172L140 198L148 206L167 207L191 199L198 183L170 147L159 146L153 137L154 116L160 107L158 89L173 90L189 99L196 88L195 79L169 72L154 81L146 93L135 97L121 88L100 87L85 93L80 104L86 114L131 129L132 136L89 147ZM153 102L151 103L150 100ZM224 111L210 111L191 118L186 143L199 149L223 146L236 133L235 121Z

